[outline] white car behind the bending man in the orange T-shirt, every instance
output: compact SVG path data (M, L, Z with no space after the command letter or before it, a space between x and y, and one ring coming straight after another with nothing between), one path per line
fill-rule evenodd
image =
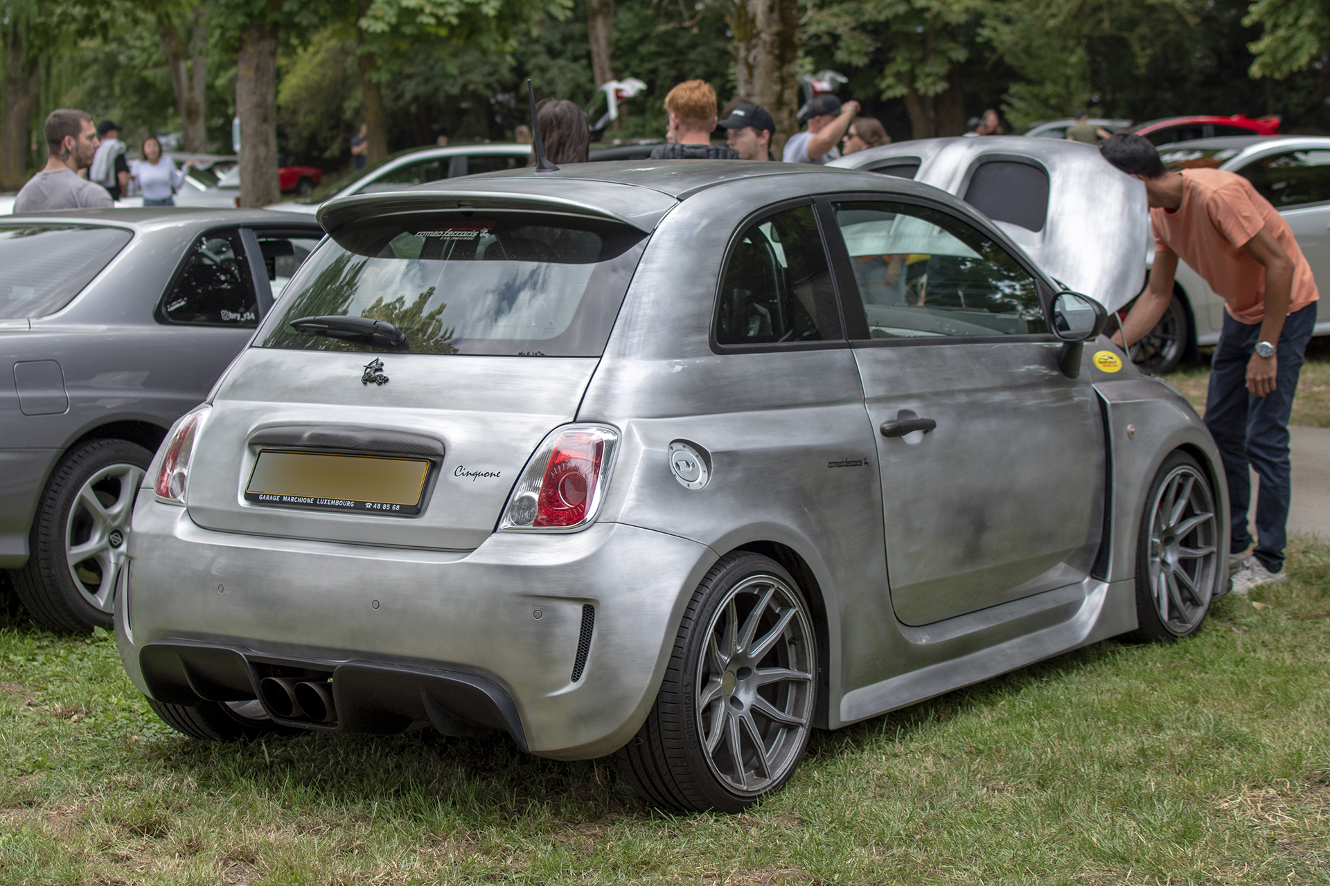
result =
M1172 170L1222 169L1242 175L1283 215L1307 256L1317 288L1330 291L1330 138L1323 135L1230 135L1160 146ZM1150 248L1153 259L1153 247ZM1136 347L1136 361L1170 372L1197 347L1213 345L1224 327L1224 299L1180 262L1173 302ZM1330 310L1319 303L1313 335L1330 335Z

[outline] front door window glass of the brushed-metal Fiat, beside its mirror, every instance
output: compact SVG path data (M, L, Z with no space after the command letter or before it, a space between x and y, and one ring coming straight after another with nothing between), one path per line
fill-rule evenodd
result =
M874 339L1047 332L1035 278L986 234L938 210L837 203Z

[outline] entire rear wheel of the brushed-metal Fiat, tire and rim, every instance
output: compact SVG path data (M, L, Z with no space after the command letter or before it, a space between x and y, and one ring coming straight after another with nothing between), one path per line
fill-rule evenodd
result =
M730 639L725 651L713 636ZM751 806L779 790L803 756L817 660L811 611L794 578L761 554L726 554L684 612L646 723L616 754L620 772L656 806Z

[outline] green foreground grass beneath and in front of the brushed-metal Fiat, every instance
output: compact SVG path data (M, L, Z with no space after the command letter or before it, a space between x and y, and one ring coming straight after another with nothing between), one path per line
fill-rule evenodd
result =
M818 733L741 816L430 732L209 745L105 634L0 619L3 883L1330 882L1330 546L1194 639Z

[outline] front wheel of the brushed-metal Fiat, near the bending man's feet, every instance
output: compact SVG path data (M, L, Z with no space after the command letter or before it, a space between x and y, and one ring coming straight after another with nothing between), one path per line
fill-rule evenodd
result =
M1137 530L1137 628L1130 639L1172 643L1201 630L1228 580L1214 503L1210 477L1196 458L1169 453L1150 481Z

